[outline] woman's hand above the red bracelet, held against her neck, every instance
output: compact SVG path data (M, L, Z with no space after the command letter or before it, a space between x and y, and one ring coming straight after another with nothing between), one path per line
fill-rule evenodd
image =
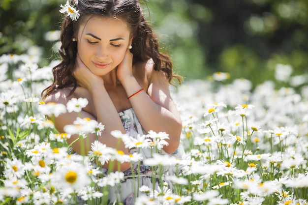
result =
M126 49L126 53L122 62L118 65L117 77L122 82L126 77L132 77L132 65L133 65L133 54L130 53L129 49Z

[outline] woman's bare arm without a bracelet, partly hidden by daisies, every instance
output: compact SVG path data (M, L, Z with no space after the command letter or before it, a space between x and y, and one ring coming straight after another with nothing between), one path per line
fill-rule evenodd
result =
M77 61L79 61L78 59ZM95 116L91 115L89 112L85 111L87 109L84 109L80 113L80 117L88 117L90 119L97 120L98 122L101 122L105 129L102 131L101 136L98 136L98 141L105 144L106 146L117 148L118 150L122 150L124 154L128 154L128 149L125 148L123 142L118 144L118 139L113 137L110 132L113 130L120 130L123 134L125 133L125 130L123 128L122 121L119 117L119 114L109 96L107 93L103 80L99 77L94 75L85 65L82 64L82 62L79 61L79 65L76 66L76 69L73 73L74 77L76 78L77 82L81 87L78 87L79 91L81 93L89 93L92 99L88 99L90 103L92 103L92 107L94 108L93 113ZM56 93L48 96L45 99L45 102L55 102L55 103L62 103L66 105L66 103L73 98L73 95L68 96L69 90L65 90L67 88L64 88L62 90L57 91ZM55 118L55 126L56 129L59 132L64 132L64 126L68 124L73 124L73 121L76 120L76 117L79 117L77 113L66 113L62 114L59 117ZM68 143L73 142L76 140L79 136L73 135L71 138L67 141ZM90 141L90 147L84 147L84 153L87 153L87 150L91 150L91 144L95 140L95 134L89 133L89 141ZM84 140L84 145L86 144L86 140ZM75 142L72 145L73 149L77 151L77 153L81 154L83 151L80 148L80 140ZM118 163L115 163L115 169L118 170ZM109 164L103 165L104 168L108 168ZM129 163L123 163L121 164L121 171L127 170L130 167Z

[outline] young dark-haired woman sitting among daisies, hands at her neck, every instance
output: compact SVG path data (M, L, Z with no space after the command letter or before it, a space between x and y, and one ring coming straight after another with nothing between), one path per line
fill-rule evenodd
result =
M101 122L104 131L98 140L125 154L136 149L118 145L111 131L133 137L150 130L166 132L170 139L163 154L178 153L182 121L169 86L173 78L180 77L172 73L171 59L159 52L157 38L138 0L71 0L62 8L68 11L61 31L62 62L53 68L53 84L42 92L45 102L66 105L72 98L87 98L89 104L81 117ZM76 117L74 112L56 117L57 130L63 133L63 127ZM68 143L77 138L72 136ZM92 143L95 135L89 138ZM80 141L72 147L77 153L91 149L81 150ZM142 153L149 157L147 150ZM108 164L103 167L108 168ZM127 176L122 183L122 200L127 201L134 193L130 163L115 166L119 169ZM140 185L151 187L150 183L149 177L140 181ZM114 195L109 194L110 203L115 201Z

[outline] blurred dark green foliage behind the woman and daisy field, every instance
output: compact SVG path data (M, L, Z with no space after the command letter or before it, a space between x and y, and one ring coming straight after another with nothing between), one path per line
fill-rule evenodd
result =
M40 66L57 57L60 4L0 0L0 55L38 46ZM147 0L144 12L178 74L206 79L226 72L253 85L275 79L277 64L308 73L308 0ZM48 37L49 35L49 37ZM56 44L56 45L55 45ZM307 81L306 81L307 82ZM280 83L283 84L281 81Z

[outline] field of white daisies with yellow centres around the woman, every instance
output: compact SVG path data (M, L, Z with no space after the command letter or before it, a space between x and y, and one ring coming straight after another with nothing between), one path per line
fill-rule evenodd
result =
M245 79L185 82L173 91L183 120L182 159L155 154L167 133L132 139L117 131L112 134L127 147L153 148L153 157L125 156L98 141L83 157L69 154L65 139L73 133L99 137L104 125L77 118L66 133L58 133L45 115L79 112L87 101L44 104L40 92L51 83L57 62L43 68L36 63L28 55L0 57L0 205L75 204L78 197L88 205L105 205L108 187L117 189L124 175L104 173L94 162L114 160L143 160L156 171L154 177L166 180L158 191L140 187L136 205L308 203L307 86L296 91L265 82L250 91ZM163 174L170 165L176 176Z

